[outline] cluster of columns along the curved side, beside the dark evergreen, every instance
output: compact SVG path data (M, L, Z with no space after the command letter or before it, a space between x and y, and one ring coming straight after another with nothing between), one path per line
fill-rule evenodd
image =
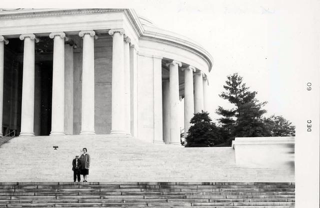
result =
M167 63L166 66L169 67L169 79L162 82L162 135L166 143L180 145L178 67L181 66L181 62L173 60ZM181 70L184 72L184 136L186 136L193 113L207 110L206 93L208 83L204 73L201 71L196 72L193 66L189 65L181 68Z

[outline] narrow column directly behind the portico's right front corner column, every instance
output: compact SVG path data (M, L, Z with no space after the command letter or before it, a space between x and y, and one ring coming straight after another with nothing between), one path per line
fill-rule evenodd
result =
M130 119L130 45L129 37L124 38L123 50L124 50L124 123L125 132L127 135L131 135L131 119Z

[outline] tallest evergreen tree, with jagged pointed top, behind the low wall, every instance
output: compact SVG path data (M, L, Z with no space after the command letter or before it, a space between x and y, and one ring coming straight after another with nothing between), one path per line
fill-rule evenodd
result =
M259 102L255 96L256 91L242 82L242 77L237 73L227 76L225 89L219 96L234 104L232 109L218 107L216 113L221 116L218 119L221 128L224 129L223 138L227 145L231 144L234 137L263 137L271 136L267 125L263 122L262 107L266 102Z

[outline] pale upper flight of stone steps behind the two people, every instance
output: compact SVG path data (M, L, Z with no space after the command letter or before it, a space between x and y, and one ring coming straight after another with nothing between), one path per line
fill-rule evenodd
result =
M120 135L13 138L0 146L0 182L71 182L72 159L84 147L89 182L294 182L287 169L237 166L231 147L183 148Z

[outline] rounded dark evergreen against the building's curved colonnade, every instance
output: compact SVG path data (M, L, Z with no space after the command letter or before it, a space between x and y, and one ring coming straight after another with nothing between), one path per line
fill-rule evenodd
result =
M223 142L218 128L209 117L207 112L195 113L190 123L185 147L212 147Z

